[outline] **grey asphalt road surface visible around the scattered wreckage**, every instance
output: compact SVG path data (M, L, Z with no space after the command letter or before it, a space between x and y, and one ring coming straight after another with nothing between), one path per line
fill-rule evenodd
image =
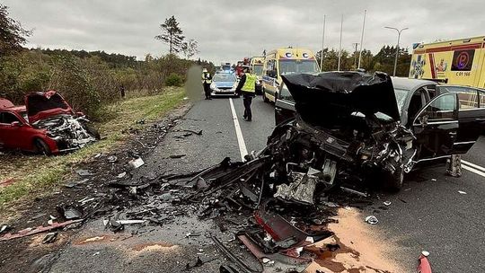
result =
M138 169L133 179L165 172L192 172L219 163L226 156L238 161L242 148L248 152L263 148L275 127L273 105L264 103L260 97L255 98L253 119L247 122L242 119L242 99L232 101L236 122L228 98L195 103L174 131L144 158L145 165ZM236 126L241 128L242 137L237 137ZM177 130L181 129L202 129L203 134L178 138L176 136L181 132ZM481 138L464 159L485 166L485 158L481 156L484 153L485 138ZM170 158L174 154L185 156ZM408 272L415 272L421 251L431 253L429 260L435 273L485 272L482 259L485 254L484 197L485 177L463 170L462 178L451 178L445 176L445 167L434 167L414 173L397 194L379 193L374 205L364 209L363 216L377 216L378 225L369 226L382 238L375 242L376 247L383 243L395 245L392 259L402 268L409 269ZM384 207L384 200L390 200L392 204ZM98 220L72 239L70 245L58 254L49 272L178 272L197 256L216 260L191 272L218 272L224 257L218 255L214 245L204 236L185 236L212 231L222 241L230 242L230 234L217 230L212 223L188 217L162 227L133 229L137 236L129 236L130 230L113 235L104 230ZM103 239L85 242L86 238L94 236ZM151 248L159 251L150 251ZM242 251L241 255L246 255L246 260L251 259L247 251Z

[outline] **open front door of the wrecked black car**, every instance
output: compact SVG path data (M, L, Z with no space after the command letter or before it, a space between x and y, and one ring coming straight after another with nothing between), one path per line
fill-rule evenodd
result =
M419 159L454 154L458 128L457 93L444 93L429 101L412 123Z

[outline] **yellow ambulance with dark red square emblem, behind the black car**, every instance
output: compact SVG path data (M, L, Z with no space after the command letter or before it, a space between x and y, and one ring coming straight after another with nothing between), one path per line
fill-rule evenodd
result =
M413 45L410 78L485 88L485 36Z

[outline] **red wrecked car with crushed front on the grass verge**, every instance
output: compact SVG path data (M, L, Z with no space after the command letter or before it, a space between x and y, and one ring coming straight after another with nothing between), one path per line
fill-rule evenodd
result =
M0 147L58 154L99 138L84 114L75 113L58 92L32 92L24 106L0 98Z

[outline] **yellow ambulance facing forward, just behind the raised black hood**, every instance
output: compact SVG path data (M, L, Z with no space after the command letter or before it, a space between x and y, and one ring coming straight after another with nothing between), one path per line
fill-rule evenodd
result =
M264 101L276 101L281 75L290 73L318 73L320 71L312 50L305 48L277 48L264 58L262 95Z

